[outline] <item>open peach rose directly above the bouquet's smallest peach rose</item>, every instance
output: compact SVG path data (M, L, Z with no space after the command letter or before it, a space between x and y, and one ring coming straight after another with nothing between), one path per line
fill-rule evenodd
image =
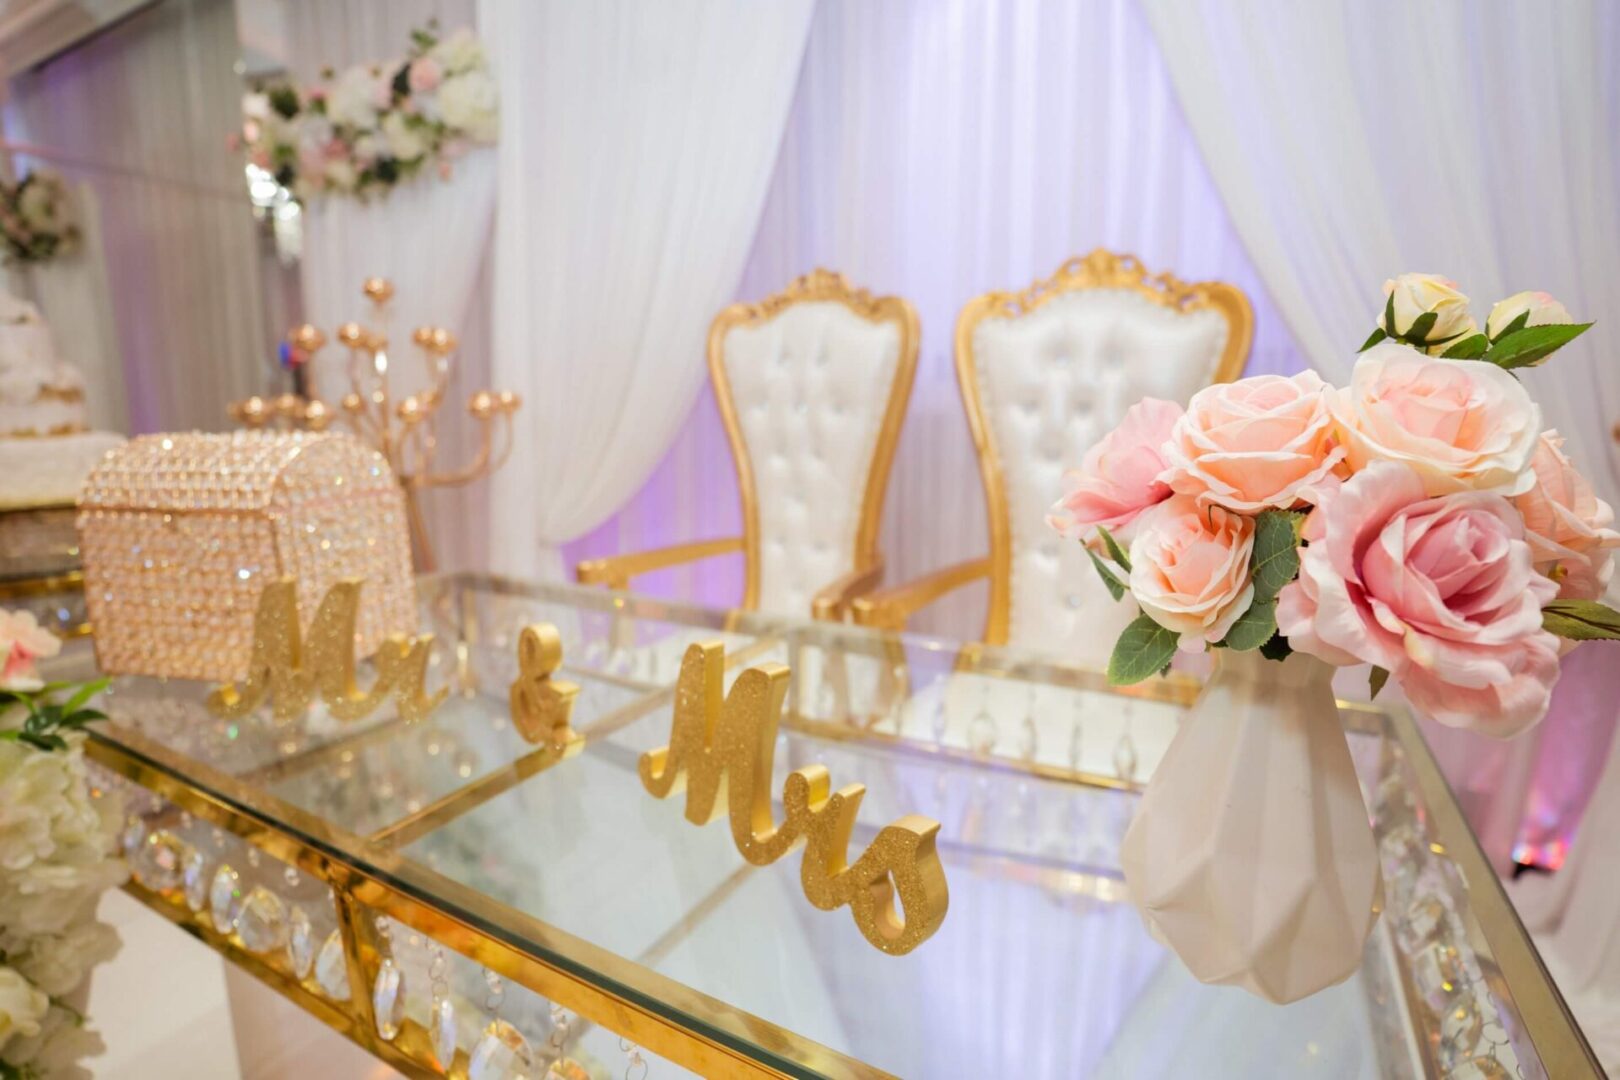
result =
M1170 432L1165 481L1241 513L1294 507L1345 457L1327 389L1314 371L1204 387Z

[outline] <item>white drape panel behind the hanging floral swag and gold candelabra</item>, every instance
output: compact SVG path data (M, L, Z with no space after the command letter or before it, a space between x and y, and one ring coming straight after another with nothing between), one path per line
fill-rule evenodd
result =
M392 62L410 47L411 29L436 19L441 34L478 29L475 0L288 0L287 62L300 83L356 63ZM499 73L497 73L499 74ZM517 100L517 99L510 99ZM496 206L499 147L475 147L454 164L449 180L423 170L386 196L366 202L348 196L313 198L303 212L300 280L303 319L327 338L345 322L373 322L360 285L368 277L394 282L386 322L390 390L426 385L410 343L418 325L442 325L460 342L457 374L441 413L444 465L463 461L476 431L462 408L467 395L489 385L489 228ZM343 350L327 345L314 368L314 385L329 402L347 390ZM512 466L517 468L517 466ZM483 531L465 528L488 513L481 484L426 492L423 510L441 568L484 562Z

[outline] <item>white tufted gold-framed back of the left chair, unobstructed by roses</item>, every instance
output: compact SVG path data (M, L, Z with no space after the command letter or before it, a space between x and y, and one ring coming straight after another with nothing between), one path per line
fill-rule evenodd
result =
M723 311L708 358L742 491L742 604L805 615L820 589L881 562L917 316L815 270Z

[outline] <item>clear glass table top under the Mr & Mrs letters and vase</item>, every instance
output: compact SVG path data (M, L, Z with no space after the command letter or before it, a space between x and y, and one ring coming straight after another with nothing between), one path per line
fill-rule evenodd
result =
M1343 706L1379 839L1383 916L1349 981L1288 1007L1196 983L1119 871L1140 785L1197 685L810 620L486 576L421 583L431 717L227 722L207 687L118 678L94 738L614 994L791 1075L1537 1077L1578 1031L1416 729ZM585 750L507 716L518 630L554 623ZM799 853L752 866L723 821L653 798L685 648L727 685L787 664L771 790L863 784L850 858L907 813L941 823L940 931L901 957L805 899ZM364 682L363 674L363 682ZM418 980L424 988L428 980Z

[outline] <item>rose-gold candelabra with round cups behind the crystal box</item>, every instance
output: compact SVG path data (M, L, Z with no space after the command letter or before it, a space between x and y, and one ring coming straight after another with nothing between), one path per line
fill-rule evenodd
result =
M376 321L387 325L394 285L382 277L366 279L361 291L371 301ZM428 372L428 389L399 400L389 392L389 337L386 329L345 322L337 342L348 350L348 392L337 408L311 390L277 397L249 397L232 402L230 418L245 427L296 427L326 431L342 419L350 431L369 442L394 470L405 491L416 568L433 570L433 542L428 538L418 494L423 487L458 487L489 476L512 453L512 415L522 398L509 390L478 390L467 398L467 411L478 424L478 452L455 470L434 468L439 452L439 408L450 384L455 335L444 327L423 325L411 332L411 343ZM319 327L303 324L287 332L287 347L298 356L298 368L314 363L327 337Z

